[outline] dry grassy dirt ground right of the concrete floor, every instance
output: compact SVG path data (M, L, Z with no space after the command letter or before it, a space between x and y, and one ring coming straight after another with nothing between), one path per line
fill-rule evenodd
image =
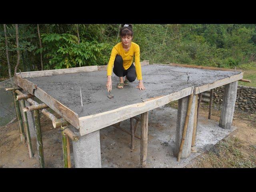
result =
M219 106L212 110L212 119L220 120ZM208 118L208 106L200 114ZM192 160L185 168L256 168L256 115L235 110L234 132L219 141L208 152Z

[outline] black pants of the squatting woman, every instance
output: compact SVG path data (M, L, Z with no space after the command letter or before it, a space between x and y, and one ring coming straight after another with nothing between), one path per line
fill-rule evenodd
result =
M118 77L126 76L129 82L133 82L136 79L136 70L134 64L132 64L127 70L124 70L123 58L120 55L117 55L115 58L113 72Z

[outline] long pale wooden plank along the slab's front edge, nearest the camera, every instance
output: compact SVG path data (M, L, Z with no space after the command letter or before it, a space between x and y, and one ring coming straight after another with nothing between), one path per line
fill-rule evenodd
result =
M84 116L79 118L80 124L80 135L85 135L90 132L105 128L112 124L118 123L120 121L126 120L128 118L134 117L136 115L142 114L154 108L158 108L171 101L178 100L190 95L193 92L194 87L188 87L178 92L172 94L156 97L153 100L148 100L146 102L131 104L128 106L123 106L114 110ZM109 120L109 117L112 117Z

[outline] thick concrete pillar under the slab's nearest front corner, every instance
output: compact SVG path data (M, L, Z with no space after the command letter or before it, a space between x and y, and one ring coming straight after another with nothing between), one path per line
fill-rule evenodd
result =
M76 168L101 168L100 130L80 136L72 144Z

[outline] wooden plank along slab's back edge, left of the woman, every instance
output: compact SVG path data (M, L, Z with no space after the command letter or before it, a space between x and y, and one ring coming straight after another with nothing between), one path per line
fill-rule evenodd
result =
M78 72L91 72L97 71L98 66L84 66L84 67L73 67L68 69L54 69L54 70L43 70L43 71L29 71L16 73L17 76L21 76L22 78L35 78L35 77L46 77L53 75L61 75L61 74L72 74Z

